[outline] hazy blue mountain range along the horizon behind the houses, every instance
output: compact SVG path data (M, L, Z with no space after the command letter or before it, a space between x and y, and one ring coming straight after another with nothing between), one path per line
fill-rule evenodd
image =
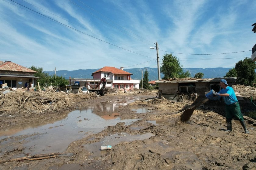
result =
M150 68L150 67L144 67L148 70L148 80L158 80L158 70L157 68ZM131 78L133 80L140 80L141 79L141 70L144 68L134 68L134 69L124 69L124 71L127 71L129 73L132 73L133 75ZM224 67L217 67L217 68L183 68L183 71L189 71L191 74L191 77L194 77L196 73L204 73L203 78L215 78L215 77L224 77L226 73L231 68L224 68ZM86 69L86 70L58 70L56 71L57 76L62 76L66 79L71 78L92 78L91 74L99 69ZM145 69L143 70L144 75ZM48 73L50 76L55 74L55 71L44 71L44 73ZM161 73L161 78L163 78L164 75Z

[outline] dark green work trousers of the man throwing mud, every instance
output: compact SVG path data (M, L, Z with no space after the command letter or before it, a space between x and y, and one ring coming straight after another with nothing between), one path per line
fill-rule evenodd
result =
M238 102L229 105L226 104L226 120L231 121L233 117L236 117L240 121L244 121Z

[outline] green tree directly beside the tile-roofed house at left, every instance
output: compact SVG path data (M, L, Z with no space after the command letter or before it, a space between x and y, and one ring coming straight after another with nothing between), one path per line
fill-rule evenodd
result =
M40 79L36 80L36 84L37 82L39 82L41 87L46 87L47 85L49 85L49 83L51 83L49 74L44 73L42 67L31 66L29 69L37 71L34 76L40 77Z

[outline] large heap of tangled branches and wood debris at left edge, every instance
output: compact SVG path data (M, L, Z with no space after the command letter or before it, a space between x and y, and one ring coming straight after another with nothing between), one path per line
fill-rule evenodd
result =
M6 92L6 90L4 91ZM0 93L0 116L20 116L71 109L71 97L52 91L11 91Z

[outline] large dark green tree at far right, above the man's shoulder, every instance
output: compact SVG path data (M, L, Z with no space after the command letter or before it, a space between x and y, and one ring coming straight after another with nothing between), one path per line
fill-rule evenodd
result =
M251 61L251 58L245 58L236 63L235 69L237 72L236 82L245 86L252 86L256 77L256 63Z

